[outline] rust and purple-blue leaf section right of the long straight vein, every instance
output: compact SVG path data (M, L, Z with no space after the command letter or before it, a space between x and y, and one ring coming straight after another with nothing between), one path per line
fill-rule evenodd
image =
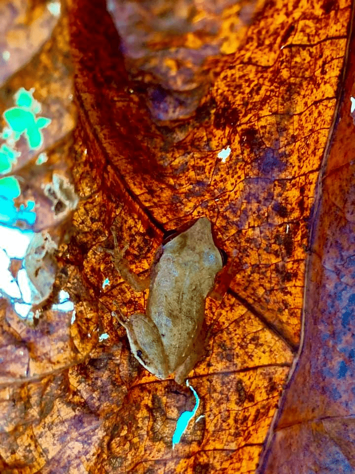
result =
M353 32L350 50L354 43ZM306 275L304 343L259 473L355 471L355 123L351 113L355 68L350 58L345 79L316 196Z

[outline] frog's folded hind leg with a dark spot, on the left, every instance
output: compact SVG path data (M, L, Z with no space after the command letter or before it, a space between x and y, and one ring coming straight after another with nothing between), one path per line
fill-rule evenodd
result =
M134 313L126 320L121 312L121 317L115 312L112 312L112 315L126 329L131 351L136 359L150 373L160 379L166 379L170 373L168 359L154 322L143 313Z

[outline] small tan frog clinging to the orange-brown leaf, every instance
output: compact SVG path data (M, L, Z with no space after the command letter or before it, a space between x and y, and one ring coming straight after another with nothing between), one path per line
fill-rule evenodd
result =
M199 218L189 229L163 242L150 268L140 279L127 267L123 252L107 250L115 268L135 291L149 286L146 312L117 317L127 331L131 351L160 379L175 373L182 384L204 349L201 334L206 297L222 269L222 256L212 236L211 222Z

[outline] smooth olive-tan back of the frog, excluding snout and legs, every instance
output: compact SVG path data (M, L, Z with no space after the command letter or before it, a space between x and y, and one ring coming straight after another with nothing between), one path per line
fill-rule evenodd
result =
M147 313L159 330L171 372L186 359L200 335L206 296L213 288L217 271L222 268L214 244L212 249L203 249L208 256L206 265L206 259L196 249L179 245L178 237L173 243L173 248L160 251L151 276L147 305ZM219 260L214 259L216 255Z

